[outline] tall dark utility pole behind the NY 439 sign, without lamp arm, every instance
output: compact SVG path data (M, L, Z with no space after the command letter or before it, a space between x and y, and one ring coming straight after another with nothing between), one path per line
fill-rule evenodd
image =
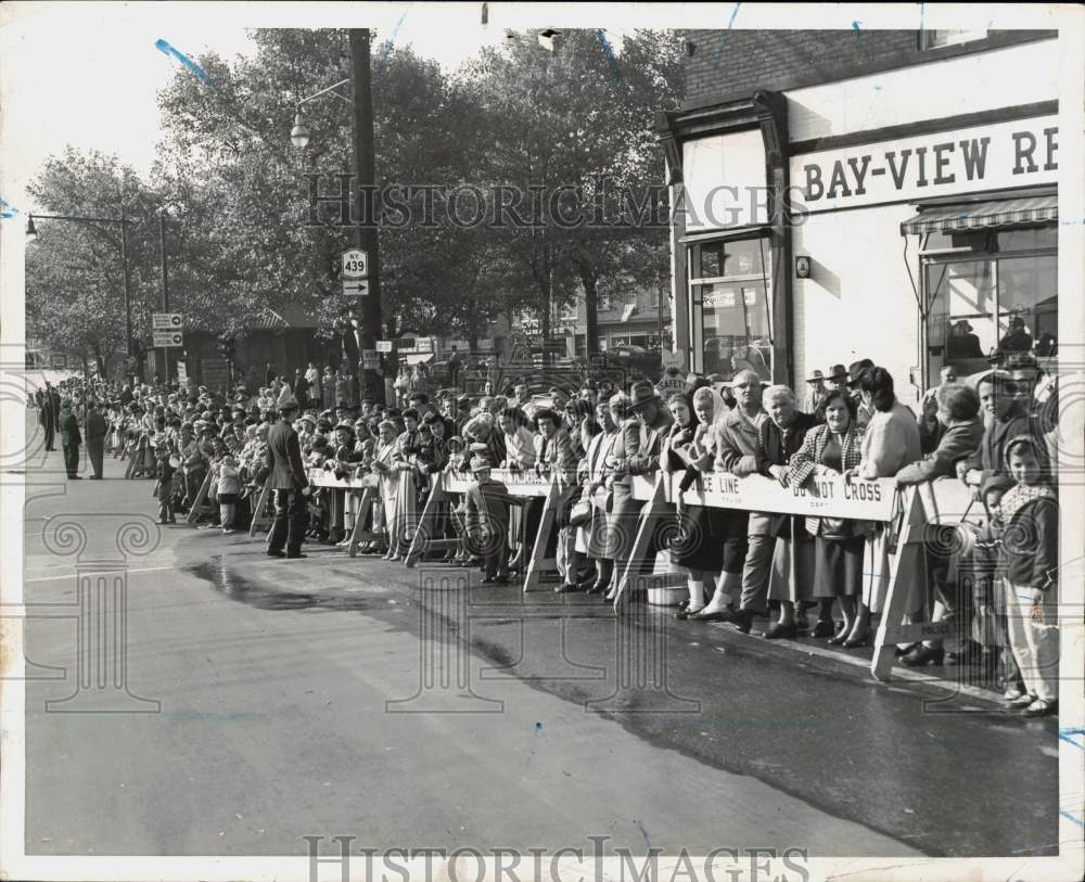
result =
M376 161L373 148L373 94L369 60L369 28L350 28L350 78L354 84L355 210L358 247L369 257L369 293L361 297L361 349L375 349L383 335L381 317L381 259L376 234L380 200L376 199ZM358 366L361 398L384 404L380 371Z

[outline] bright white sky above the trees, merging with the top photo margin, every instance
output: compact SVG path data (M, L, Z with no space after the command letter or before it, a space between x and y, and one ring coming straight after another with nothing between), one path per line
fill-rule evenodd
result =
M158 137L155 95L181 65L156 48L159 40L192 57L208 49L231 57L250 51L246 27L367 26L376 29L378 44L391 38L396 47L410 44L423 57L455 68L481 47L500 43L506 28L599 28L621 51L622 35L636 26L847 28L858 25L858 16L864 27L916 27L920 15L933 26L945 14L937 4L825 3L792 8L781 21L779 5L758 3L494 2L483 25L482 8L481 2L4 2L0 197L7 205L0 207L16 206L24 216L31 210L26 181L66 144L117 154L149 171ZM974 18L975 8L967 14ZM290 113L284 102L284 126Z

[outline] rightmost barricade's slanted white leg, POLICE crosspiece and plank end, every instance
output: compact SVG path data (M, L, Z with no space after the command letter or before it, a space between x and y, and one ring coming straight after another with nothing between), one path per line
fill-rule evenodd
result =
M870 662L870 673L875 679L882 681L890 679L895 661L893 650L897 643L939 640L957 634L959 623L956 619L916 622L907 625L903 623L907 612L905 605L908 591L901 585L902 574L907 574L921 564L924 527L928 524L953 529L961 524L966 514L975 510L972 506L971 488L952 478L907 487L902 497L904 514L901 533L896 540L896 553L890 559L885 603L875 637L873 659ZM983 520L982 514L975 515L972 519L973 526L979 527ZM958 528L968 529L966 526ZM957 544L949 541L944 545L950 548ZM910 566L906 566L905 562L910 563Z

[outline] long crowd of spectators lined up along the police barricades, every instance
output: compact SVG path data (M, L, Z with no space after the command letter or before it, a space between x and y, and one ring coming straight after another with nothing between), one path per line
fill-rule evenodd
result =
M298 400L297 384L277 378L229 396L76 379L47 387L35 404L47 447L62 433L69 476L78 477L81 434L94 477L103 449L125 451L130 476L155 480L161 523L187 513L230 534L248 525L267 484L275 558L304 558L305 540L347 545L360 526L368 537L360 553L403 560L433 482L451 472L469 488L438 507L430 538L445 540L444 553L429 559L507 584L526 570L544 504L511 495L509 475L557 477L557 529L545 549L557 560L556 590L607 600L634 554L643 507L636 475L679 474L684 488L710 472L760 474L784 487L824 475L901 487L959 481L987 512L984 531L967 549L929 542L905 586L910 621L953 618L958 639L901 647L899 661L982 664L998 673L1011 706L1029 716L1056 707L1056 384L1020 365L995 365L968 381L946 369L916 413L869 359L813 371L802 394L754 370L726 382L690 374L681 391L661 394L676 375L671 369L663 378L671 383L628 388L586 379L535 395L526 380L481 396L403 389L394 405L343 398L327 407L331 399ZM312 486L312 470L372 488L368 513L358 494ZM505 481L496 470L506 470ZM684 502L676 515L667 548L643 564L662 550L685 574L679 619L749 632L767 616L766 639L809 637L845 650L869 643L889 584L889 525Z

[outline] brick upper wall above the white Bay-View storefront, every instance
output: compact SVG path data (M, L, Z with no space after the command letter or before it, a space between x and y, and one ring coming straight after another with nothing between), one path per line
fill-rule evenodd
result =
M844 79L949 54L982 51L1055 31L991 31L986 39L929 52L917 30L687 30L686 106ZM936 54L935 54L936 53Z

